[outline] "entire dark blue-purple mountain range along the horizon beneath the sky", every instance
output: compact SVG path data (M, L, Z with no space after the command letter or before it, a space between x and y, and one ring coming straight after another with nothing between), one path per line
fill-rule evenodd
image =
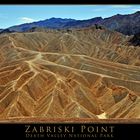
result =
M121 32L125 35L134 35L140 32L140 11L128 15L114 15L109 18L95 17L88 20L50 18L38 22L26 23L9 27L10 31L25 32L34 27L49 29L69 29L83 28L93 26L94 24L102 25L110 30Z

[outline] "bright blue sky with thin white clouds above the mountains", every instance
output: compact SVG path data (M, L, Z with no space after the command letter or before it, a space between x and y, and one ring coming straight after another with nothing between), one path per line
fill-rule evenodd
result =
M136 11L140 5L0 5L0 29L52 17L82 20Z

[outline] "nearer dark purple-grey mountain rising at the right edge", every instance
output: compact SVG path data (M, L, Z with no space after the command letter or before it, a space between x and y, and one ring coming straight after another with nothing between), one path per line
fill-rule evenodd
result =
M140 32L140 11L134 14L120 15L105 18L100 24L105 27L121 32L125 35L133 35Z

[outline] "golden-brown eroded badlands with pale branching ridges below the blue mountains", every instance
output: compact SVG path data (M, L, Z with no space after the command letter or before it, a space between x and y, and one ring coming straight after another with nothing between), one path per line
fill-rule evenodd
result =
M107 21L2 30L0 121L139 121L140 35Z

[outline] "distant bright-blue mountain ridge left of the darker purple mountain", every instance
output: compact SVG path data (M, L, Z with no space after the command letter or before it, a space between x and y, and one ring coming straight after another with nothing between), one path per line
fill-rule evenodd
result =
M50 18L43 21L12 26L9 29L17 32L24 32L34 27L49 28L49 29L82 28L94 25L100 22L101 20L102 20L101 17L89 20Z

